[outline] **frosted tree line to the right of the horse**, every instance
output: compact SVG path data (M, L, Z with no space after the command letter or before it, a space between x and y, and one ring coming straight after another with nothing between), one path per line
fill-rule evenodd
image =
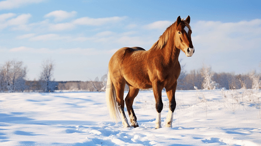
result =
M181 70L177 90L213 89L260 89L260 73L251 71L245 74L215 73L205 65L189 73Z

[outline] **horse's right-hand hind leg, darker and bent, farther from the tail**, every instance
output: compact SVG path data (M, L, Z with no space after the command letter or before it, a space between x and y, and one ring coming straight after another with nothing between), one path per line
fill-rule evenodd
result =
M127 106L127 110L130 116L130 122L131 125L136 128L139 127L138 123L137 123L137 117L134 113L134 110L132 108L132 104L134 101L134 98L137 96L137 94L139 93L140 89L134 88L134 87L129 87L130 90L125 98L125 102L126 102L126 106Z

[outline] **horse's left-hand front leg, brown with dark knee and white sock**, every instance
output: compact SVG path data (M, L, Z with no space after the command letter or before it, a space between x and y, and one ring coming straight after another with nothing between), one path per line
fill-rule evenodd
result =
M163 109L163 103L161 99L161 91L163 87L159 83L154 83L153 86L153 93L156 100L156 110L158 112L156 118L156 129L161 128L161 110Z

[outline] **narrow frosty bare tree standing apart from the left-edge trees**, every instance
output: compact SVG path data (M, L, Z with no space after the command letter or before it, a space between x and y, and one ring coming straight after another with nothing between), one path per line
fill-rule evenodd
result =
M40 81L43 84L43 90L45 92L53 92L56 86L56 82L52 81L54 74L54 61L51 59L43 60L41 64L42 71L40 73Z

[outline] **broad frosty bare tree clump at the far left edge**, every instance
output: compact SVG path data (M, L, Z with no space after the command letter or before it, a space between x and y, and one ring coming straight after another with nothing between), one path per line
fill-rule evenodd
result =
M0 87L2 91L14 92L25 89L27 67L22 61L7 61L0 68Z

